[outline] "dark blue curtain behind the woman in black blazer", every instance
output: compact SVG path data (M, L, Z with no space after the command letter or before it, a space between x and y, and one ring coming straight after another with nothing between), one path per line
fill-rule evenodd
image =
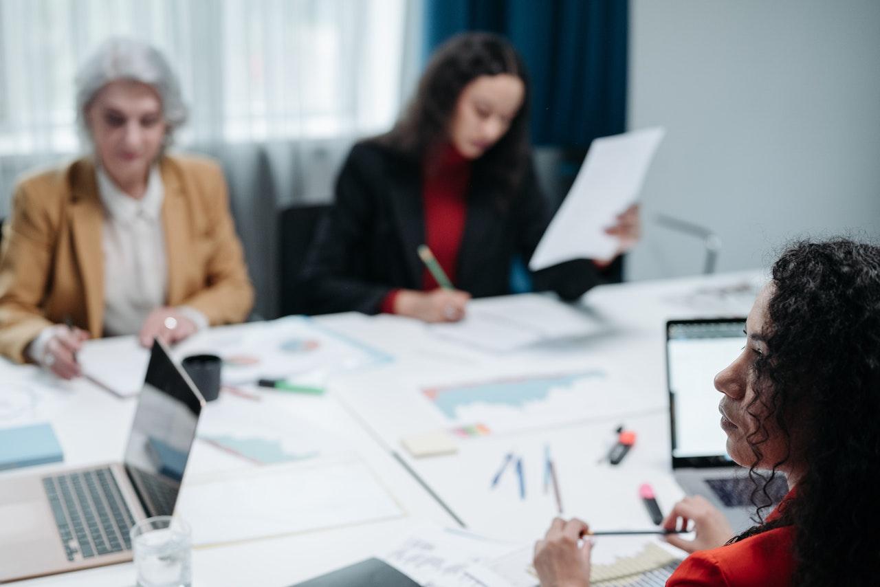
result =
M532 143L586 149L626 128L627 0L427 0L425 55L463 31L507 37L532 79Z

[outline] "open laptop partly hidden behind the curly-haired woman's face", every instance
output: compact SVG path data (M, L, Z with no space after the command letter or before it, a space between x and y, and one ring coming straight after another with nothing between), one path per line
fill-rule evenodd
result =
M755 485L748 470L727 454L727 435L719 425L721 393L713 380L742 352L744 329L744 318L666 323L672 473L687 495L703 495L722 510L735 532L754 524ZM763 493L754 499L773 505L787 492L785 477L778 474L767 486L770 499Z

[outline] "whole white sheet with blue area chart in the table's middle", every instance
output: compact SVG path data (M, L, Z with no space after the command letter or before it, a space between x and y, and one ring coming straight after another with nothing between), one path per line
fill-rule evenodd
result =
M503 374L502 374L503 373ZM417 433L468 436L552 429L661 407L620 373L584 364L570 371L458 370L455 375L357 378L334 390L380 437L398 445ZM627 400L626 398L631 398ZM393 407L393 409L389 409Z

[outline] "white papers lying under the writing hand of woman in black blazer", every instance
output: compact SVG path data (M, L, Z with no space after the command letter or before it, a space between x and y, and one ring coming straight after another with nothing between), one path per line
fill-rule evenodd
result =
M519 294L475 299L468 303L465 319L430 329L467 346L502 353L540 341L597 334L603 325L554 297Z

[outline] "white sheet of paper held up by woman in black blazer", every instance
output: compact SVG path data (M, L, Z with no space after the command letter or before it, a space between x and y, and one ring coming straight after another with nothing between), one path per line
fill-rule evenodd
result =
M590 144L575 183L529 261L532 271L573 259L612 258L618 241L605 229L638 199L664 133L644 128Z

